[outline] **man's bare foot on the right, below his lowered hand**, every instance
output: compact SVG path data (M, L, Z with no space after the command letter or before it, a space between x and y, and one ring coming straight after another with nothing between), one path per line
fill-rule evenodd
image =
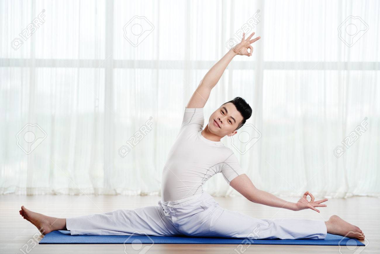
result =
M364 240L364 233L360 228L348 223L339 216L331 216L328 221L325 221L325 224L327 233Z

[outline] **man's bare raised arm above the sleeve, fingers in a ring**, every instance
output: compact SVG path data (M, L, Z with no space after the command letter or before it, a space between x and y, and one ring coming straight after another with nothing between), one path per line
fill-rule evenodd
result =
M193 93L193 96L190 98L190 101L187 103L187 108L203 108L204 105L206 105L212 88L214 88L214 86L218 83L220 77L222 77L224 70L234 58L234 56L252 56L253 48L251 44L260 39L259 36L251 40L254 34L255 32L253 32L247 39L245 39L244 33L241 42L237 44L233 49L228 51L222 59L220 59L214 66L211 67L206 75L204 75L203 79ZM250 49L250 52L248 52L248 49Z

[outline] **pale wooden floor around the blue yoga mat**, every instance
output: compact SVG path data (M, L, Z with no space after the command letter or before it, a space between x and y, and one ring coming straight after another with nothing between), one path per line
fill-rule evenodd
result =
M296 201L296 198L284 198ZM316 197L317 199L317 197ZM30 252L24 253L124 253L123 244L33 244L30 238L37 229L19 215L21 205L26 208L54 217L72 217L92 213L101 213L115 209L133 209L141 206L156 205L159 196L18 196L0 195L0 253L20 253L24 244ZM380 204L378 198L352 197L348 199L329 199L328 207L320 208L318 214L312 210L289 211L254 204L243 197L215 198L220 206L243 212L260 219L299 218L328 220L337 214L351 224L360 227L366 235L366 247L350 250L341 249L341 253L380 253ZM291 245L251 245L242 249L247 253L340 253L339 246L291 246ZM154 244L146 253L242 253L236 251L235 245L210 244ZM234 250L235 249L235 250ZM128 253L139 253L128 249Z

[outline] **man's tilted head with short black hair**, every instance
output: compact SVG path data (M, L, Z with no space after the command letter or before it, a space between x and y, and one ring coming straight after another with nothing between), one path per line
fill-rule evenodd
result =
M209 130L224 137L233 136L252 115L249 104L241 97L236 97L221 105L209 118Z

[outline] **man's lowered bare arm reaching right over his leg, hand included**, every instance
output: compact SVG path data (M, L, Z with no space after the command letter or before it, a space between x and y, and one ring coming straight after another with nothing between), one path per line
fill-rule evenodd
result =
M319 212L315 207L326 207L326 204L321 203L328 200L325 198L324 200L314 201L314 196L309 192L305 192L297 203L285 201L271 193L257 189L246 174L241 174L240 176L235 177L230 182L230 186L253 203L265 204L267 206L285 208L293 211L310 208ZM307 200L307 195L311 197L310 201Z

